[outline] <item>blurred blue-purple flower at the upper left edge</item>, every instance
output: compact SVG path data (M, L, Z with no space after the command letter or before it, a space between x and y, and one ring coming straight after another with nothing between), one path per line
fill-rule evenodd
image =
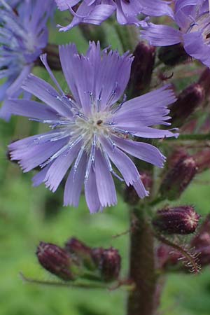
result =
M0 87L1 118L10 118L8 98L23 92L22 82L48 43L46 22L53 6L53 0L0 1L0 78L6 78Z

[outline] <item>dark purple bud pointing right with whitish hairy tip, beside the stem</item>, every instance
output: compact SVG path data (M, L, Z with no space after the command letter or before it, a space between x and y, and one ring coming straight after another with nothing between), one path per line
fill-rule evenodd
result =
M195 232L200 215L190 206L159 210L153 218L153 226L166 234L187 235Z

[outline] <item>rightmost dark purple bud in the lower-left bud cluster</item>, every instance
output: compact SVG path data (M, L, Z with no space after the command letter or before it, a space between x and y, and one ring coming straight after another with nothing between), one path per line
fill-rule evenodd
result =
M94 261L99 267L104 281L118 279L120 273L121 257L116 248L94 248L92 250Z

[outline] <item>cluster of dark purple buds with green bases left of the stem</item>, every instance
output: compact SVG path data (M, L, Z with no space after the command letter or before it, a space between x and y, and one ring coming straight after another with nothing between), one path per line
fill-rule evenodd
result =
M36 255L42 267L64 281L93 276L108 282L117 280L120 273L117 249L90 248L76 238L66 241L64 248L41 241Z

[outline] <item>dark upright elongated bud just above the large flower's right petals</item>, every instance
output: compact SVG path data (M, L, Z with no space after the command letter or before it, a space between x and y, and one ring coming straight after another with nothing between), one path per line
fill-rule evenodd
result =
M148 90L155 63L155 47L141 41L134 50L130 89L133 97Z

